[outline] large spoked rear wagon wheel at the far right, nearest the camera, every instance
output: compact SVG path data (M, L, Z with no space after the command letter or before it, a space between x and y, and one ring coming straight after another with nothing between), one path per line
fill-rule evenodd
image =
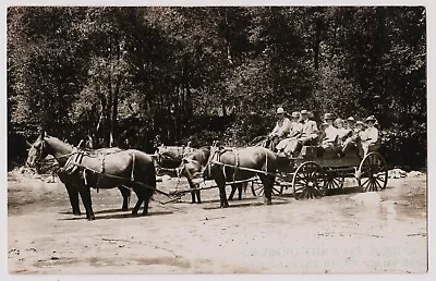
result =
M362 192L385 190L388 183L388 166L378 152L367 154L356 171L359 187Z

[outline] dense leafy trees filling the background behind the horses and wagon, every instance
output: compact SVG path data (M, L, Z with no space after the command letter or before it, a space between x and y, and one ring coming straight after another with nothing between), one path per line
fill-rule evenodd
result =
M426 131L412 133L426 122L425 9L8 10L10 142L43 126L73 144L90 135L147 151L155 135L242 146L269 132L279 106L317 122L374 114L392 161L424 166ZM11 160L24 150L8 147ZM393 157L412 149L420 156Z

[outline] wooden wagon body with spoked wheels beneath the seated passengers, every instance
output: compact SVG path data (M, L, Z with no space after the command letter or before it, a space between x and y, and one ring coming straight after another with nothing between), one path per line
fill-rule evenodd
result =
M295 199L319 198L329 191L341 190L347 178L355 179L361 192L386 188L388 167L377 151L361 157L355 150L344 156L326 150L322 156L316 146L304 146L296 158L278 157L276 184L272 192L281 194L291 188ZM263 186L253 184L253 195Z

